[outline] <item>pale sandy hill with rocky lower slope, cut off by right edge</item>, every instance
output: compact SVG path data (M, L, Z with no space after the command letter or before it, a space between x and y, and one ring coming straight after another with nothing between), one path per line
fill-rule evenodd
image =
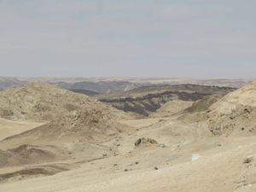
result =
M207 117L214 135L255 133L256 81L213 103Z

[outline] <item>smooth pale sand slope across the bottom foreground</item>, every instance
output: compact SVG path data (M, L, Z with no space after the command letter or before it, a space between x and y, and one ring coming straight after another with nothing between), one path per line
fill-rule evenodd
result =
M142 129L123 141L122 154L88 162L73 171L54 176L3 183L0 184L0 191L255 191L252 172L256 164L248 165L243 161L256 154L256 137L214 137L198 139L185 144L183 148L173 148L170 145L166 148L132 150L130 140L133 141L146 132L148 136L158 137L159 131L150 131L152 128L148 126L150 122L154 125L155 121L156 119L149 119L149 123L145 119L127 121L126 124L137 125L136 128ZM177 121L169 123L177 125ZM165 137L162 139L166 141ZM131 153L125 153L127 149L131 149Z

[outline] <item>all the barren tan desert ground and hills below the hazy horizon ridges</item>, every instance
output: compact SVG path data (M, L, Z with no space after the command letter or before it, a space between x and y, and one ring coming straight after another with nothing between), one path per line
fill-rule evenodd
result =
M0 191L253 192L255 90L255 82L93 97L44 83L2 90Z

